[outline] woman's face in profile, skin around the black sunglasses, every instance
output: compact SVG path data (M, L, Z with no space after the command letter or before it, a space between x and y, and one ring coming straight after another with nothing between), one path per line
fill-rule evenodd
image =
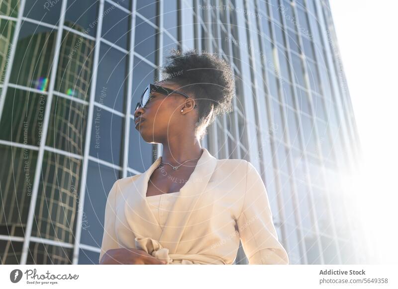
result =
M180 85L172 82L157 82L156 85L180 90ZM194 101L180 94L153 92L147 105L139 107L134 113L135 129L147 143L167 143L172 136L192 130L190 123L195 123L197 109ZM184 110L184 115L181 113Z

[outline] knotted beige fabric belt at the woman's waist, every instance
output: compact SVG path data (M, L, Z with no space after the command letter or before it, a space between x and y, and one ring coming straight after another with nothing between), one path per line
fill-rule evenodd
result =
M169 254L169 249L164 248L157 240L152 238L136 237L135 247L144 250L149 255L166 261L167 264L182 264L182 265L195 265L195 264L226 264L223 260L215 257L209 257L199 254Z

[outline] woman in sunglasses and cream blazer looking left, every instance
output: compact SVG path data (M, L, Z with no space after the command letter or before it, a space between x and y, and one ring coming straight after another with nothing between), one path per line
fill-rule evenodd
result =
M249 264L288 264L264 183L241 159L216 159L200 140L231 111L229 65L191 50L172 51L165 80L148 84L135 129L162 156L116 181L106 208L100 264L233 264L239 239Z

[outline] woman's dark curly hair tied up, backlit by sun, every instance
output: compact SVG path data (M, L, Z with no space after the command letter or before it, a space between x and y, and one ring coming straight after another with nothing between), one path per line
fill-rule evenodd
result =
M179 84L182 91L195 99L199 108L195 134L199 140L217 116L232 112L235 78L225 60L204 50L199 54L196 49L184 53L173 49L161 72L162 81Z

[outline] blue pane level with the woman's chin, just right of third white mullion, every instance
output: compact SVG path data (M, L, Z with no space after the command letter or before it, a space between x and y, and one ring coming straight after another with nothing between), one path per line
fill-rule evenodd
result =
M121 165L123 123L120 116L94 106L90 155Z

